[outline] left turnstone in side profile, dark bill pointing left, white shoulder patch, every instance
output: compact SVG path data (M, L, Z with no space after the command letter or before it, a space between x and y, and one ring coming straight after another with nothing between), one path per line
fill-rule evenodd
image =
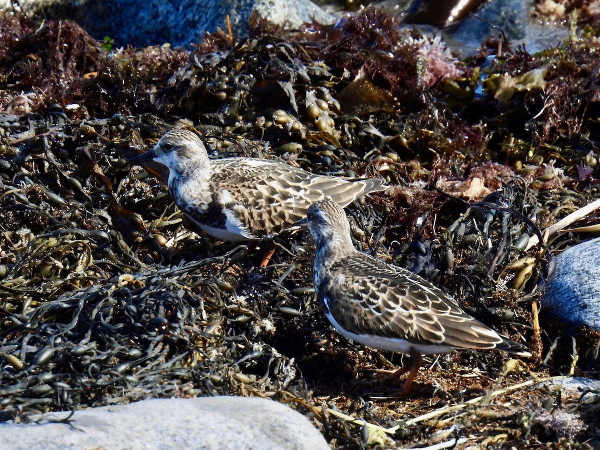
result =
M202 141L187 130L169 131L130 161L149 160L169 169L169 192L179 209L206 233L226 241L272 237L305 217L317 200L347 206L384 184L381 179L314 175L257 158L209 160Z

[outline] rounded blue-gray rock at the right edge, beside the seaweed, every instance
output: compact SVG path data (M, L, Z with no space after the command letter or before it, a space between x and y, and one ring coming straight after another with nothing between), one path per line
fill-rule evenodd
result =
M574 245L556 257L542 296L542 314L572 328L600 331L600 238Z

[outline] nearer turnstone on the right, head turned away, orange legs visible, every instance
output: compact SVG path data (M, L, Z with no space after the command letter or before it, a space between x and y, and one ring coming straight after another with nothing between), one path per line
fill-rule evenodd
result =
M321 200L304 220L316 242L314 287L325 316L345 337L374 349L410 354L390 378L409 372L410 390L423 353L456 349L505 350L531 356L464 312L451 296L419 275L354 248L350 224L337 203Z

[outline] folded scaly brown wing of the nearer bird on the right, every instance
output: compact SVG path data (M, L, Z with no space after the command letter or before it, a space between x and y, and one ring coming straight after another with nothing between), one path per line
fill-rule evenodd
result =
M331 267L326 296L338 323L357 334L470 349L504 341L424 278L362 253Z

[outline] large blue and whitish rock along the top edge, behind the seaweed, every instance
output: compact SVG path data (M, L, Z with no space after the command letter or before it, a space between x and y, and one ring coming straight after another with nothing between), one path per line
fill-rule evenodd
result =
M250 29L250 15L286 28L298 28L313 18L333 23L335 18L310 0L22 0L30 16L73 19L98 40L105 36L116 46L187 46L198 43L206 32L217 27L227 31L226 17L233 35L242 37ZM0 9L11 7L0 0Z

